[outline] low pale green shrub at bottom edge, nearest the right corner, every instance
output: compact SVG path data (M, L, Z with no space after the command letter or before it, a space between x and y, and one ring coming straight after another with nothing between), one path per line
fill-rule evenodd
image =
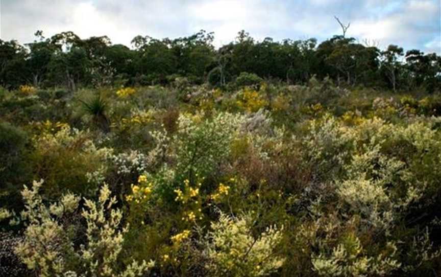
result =
M401 266L394 257L397 251L395 244L388 243L387 248L386 255L367 257L363 253L360 240L355 236L348 236L331 253L313 256L313 270L324 276L386 276Z

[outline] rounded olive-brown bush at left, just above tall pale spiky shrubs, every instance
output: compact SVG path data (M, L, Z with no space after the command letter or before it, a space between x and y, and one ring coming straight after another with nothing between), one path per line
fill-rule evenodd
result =
M88 131L63 126L33 139L30 161L35 175L45 180L44 193L54 199L66 191L95 195L108 170L112 148L97 146Z

